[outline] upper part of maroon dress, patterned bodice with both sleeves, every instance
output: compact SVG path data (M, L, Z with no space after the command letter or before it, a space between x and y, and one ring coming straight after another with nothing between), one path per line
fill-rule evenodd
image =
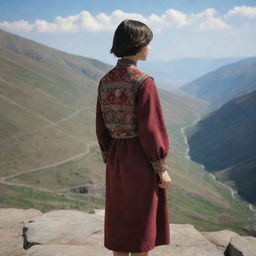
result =
M97 113L96 132L104 162L111 138L139 136L154 171L167 169L170 139L157 88L154 78L140 71L136 61L118 59L100 80Z

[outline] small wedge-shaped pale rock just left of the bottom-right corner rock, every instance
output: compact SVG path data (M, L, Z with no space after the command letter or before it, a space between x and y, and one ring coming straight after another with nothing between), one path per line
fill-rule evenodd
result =
M201 232L201 234L208 239L211 243L216 245L222 252L225 251L229 244L231 237L240 236L239 234L230 230L220 230L212 232Z

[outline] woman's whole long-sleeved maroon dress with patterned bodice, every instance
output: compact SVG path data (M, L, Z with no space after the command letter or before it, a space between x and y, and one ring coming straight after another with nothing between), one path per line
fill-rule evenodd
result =
M96 134L106 164L104 246L148 252L170 244L167 189L169 135L154 78L118 59L98 86Z

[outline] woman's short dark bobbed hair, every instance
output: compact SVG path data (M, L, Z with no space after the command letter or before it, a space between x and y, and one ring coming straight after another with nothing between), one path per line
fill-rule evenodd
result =
M123 20L117 27L110 53L116 57L135 55L153 39L152 30L143 22Z

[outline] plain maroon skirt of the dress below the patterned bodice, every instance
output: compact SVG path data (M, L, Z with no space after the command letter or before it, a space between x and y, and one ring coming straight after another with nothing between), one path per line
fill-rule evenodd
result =
M170 244L167 188L159 181L138 136L112 138L106 162L106 248L148 252Z

